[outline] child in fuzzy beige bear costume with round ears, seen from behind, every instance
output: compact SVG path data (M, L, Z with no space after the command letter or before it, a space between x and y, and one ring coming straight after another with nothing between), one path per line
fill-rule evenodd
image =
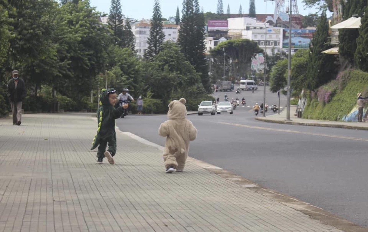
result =
M177 172L183 171L188 157L189 141L197 137L197 129L187 119L186 102L184 98L171 101L167 112L169 120L163 122L159 128L159 135L166 136L163 151L166 173L171 173L174 169Z

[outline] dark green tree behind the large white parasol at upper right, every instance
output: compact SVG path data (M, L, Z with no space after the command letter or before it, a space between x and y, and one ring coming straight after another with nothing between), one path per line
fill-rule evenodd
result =
M348 0L341 1L343 19L346 20L357 14L363 16L363 11L367 6L367 1ZM354 63L354 53L357 49L358 29L339 29L339 54Z

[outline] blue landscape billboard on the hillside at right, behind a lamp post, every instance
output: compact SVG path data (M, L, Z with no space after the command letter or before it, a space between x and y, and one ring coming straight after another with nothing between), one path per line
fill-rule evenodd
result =
M309 49L315 29L291 29L291 49ZM282 48L289 49L289 29L282 33Z

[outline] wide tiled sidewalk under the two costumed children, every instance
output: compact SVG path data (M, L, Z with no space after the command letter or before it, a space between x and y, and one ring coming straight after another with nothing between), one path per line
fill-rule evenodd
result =
M0 119L0 231L340 231L193 158L165 174L160 149L119 131L98 165L92 114L22 118Z

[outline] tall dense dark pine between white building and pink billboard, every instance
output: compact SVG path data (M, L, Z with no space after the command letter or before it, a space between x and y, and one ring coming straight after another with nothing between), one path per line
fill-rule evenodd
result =
M205 21L198 0L183 0L177 43L181 47L181 52L201 75L204 88L210 91L204 39Z

